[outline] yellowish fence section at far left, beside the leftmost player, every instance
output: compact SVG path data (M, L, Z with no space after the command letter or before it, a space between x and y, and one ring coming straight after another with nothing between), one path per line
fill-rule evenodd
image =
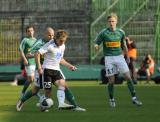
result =
M21 33L20 18L0 17L0 64L17 63Z

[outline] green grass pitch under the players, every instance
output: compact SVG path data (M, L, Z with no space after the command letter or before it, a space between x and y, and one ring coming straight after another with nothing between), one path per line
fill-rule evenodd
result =
M160 85L138 84L136 90L143 102L142 107L131 103L125 84L116 85L116 108L108 105L105 85L95 81L68 82L77 102L86 112L57 110L54 88L54 106L48 113L40 112L33 97L21 112L16 112L15 104L22 86L13 87L9 83L0 83L0 122L160 122Z

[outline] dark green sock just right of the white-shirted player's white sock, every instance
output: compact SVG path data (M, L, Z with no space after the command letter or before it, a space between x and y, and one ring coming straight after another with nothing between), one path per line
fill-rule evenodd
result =
M76 107L77 103L70 89L66 87L64 92L65 92L66 100L70 102L72 105L74 105L74 107Z

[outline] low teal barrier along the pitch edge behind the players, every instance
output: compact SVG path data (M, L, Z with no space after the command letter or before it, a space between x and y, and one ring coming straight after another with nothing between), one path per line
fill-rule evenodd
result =
M77 65L76 71L70 71L62 66L62 71L67 80L99 80L101 65ZM19 65L0 66L0 81L13 81L16 74L20 74Z

